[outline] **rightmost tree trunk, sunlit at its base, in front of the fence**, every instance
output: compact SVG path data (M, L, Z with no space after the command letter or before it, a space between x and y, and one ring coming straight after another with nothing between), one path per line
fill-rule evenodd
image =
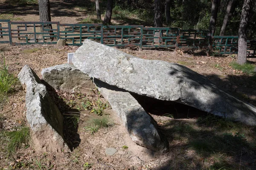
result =
M252 7L253 0L244 0L244 5L241 13L241 20L238 33L238 56L236 62L238 64L244 64L246 62L246 30L248 26L248 19L250 16L250 8Z

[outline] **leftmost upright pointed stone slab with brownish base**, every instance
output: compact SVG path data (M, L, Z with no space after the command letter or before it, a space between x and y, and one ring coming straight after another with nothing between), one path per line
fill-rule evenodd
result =
M70 152L63 138L63 117L35 72L25 65L18 78L26 88L26 119L33 131L35 149Z

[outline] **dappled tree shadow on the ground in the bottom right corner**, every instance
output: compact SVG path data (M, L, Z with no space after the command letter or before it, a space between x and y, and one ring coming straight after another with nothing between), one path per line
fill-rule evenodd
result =
M255 169L256 148L253 141L248 141L245 131L234 128L249 128L239 123L225 126L224 119L212 119L213 125L186 120L171 120L161 127L170 142L172 159L154 170L183 169ZM218 125L216 122L223 123ZM241 126L241 127L239 127ZM234 132L232 132L234 131ZM246 132L256 135L253 127Z

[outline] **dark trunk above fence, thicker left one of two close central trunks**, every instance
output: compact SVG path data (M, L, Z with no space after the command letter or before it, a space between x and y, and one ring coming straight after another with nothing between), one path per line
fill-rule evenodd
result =
M163 27L162 0L154 0L154 27Z

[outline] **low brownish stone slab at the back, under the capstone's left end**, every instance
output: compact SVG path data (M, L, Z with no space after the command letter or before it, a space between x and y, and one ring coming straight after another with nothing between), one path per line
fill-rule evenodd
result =
M93 80L74 65L62 64L44 68L41 72L44 80L56 90L68 93L93 93Z

